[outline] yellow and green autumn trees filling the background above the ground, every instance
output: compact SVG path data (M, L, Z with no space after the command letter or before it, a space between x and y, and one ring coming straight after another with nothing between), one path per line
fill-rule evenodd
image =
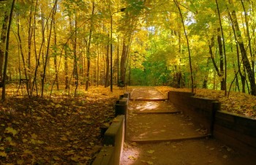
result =
M28 96L91 85L256 95L252 0L5 0L0 79ZM76 94L76 92L74 92Z

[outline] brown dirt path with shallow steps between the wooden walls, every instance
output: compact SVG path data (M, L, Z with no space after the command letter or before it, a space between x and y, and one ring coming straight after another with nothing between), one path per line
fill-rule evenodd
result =
M121 164L255 164L255 158L207 138L169 101L159 101L165 98L154 88L132 91Z

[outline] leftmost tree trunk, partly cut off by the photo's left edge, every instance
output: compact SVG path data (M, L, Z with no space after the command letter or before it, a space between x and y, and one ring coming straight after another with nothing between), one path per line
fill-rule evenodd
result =
M7 38L8 20L9 20L9 15L7 15L7 12L4 12L4 20L1 26L1 42L0 42L0 87L3 86L4 49L5 49L5 41Z

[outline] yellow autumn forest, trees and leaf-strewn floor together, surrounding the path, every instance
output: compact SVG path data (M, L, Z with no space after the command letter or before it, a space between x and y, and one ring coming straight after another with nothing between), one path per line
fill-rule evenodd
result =
M255 9L253 0L0 0L0 164L90 164L116 100L140 86L255 118Z

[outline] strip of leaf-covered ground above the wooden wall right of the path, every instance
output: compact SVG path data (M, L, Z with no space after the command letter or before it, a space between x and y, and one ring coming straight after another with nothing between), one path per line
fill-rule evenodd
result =
M156 87L162 93L167 94L168 91L185 91L191 92L187 88L170 88ZM230 92L230 95L225 96L224 91L196 89L195 96L215 99L221 102L221 110L231 112L238 115L244 115L249 118L256 118L256 96L246 93Z

